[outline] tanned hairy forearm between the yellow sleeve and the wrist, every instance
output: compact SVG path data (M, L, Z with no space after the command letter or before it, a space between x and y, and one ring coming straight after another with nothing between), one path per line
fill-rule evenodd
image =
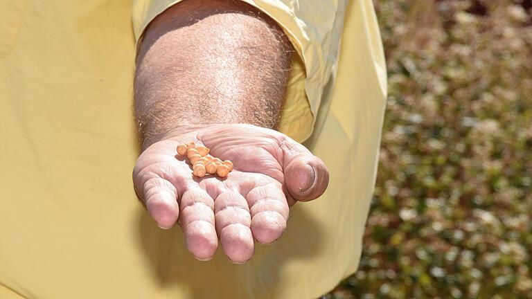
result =
M240 1L187 0L157 17L136 61L135 114L144 144L177 127L249 123L276 129L292 47Z

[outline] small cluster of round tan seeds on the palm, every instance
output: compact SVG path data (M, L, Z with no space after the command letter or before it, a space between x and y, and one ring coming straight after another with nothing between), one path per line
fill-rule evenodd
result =
M213 174L226 177L233 170L233 162L215 158L209 154L210 151L211 149L203 145L196 146L193 142L177 145L177 154L188 158L195 176L204 177L206 174Z

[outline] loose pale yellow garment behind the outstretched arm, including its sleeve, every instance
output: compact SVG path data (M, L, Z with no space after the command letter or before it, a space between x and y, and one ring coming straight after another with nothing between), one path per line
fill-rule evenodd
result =
M136 39L179 1L0 0L0 298L316 298L356 271L386 98L371 0L244 1L299 53L281 132L330 183L236 265L195 260L132 188Z

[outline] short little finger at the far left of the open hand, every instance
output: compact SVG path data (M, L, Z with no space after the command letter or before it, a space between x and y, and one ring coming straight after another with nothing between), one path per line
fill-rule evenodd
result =
M177 190L174 185L159 176L153 176L142 184L142 201L160 228L171 228L179 216Z

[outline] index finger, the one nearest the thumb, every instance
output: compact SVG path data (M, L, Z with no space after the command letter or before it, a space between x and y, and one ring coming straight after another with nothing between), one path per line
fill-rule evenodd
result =
M263 185L249 191L251 231L262 244L270 244L283 235L288 219L288 203L281 186Z

